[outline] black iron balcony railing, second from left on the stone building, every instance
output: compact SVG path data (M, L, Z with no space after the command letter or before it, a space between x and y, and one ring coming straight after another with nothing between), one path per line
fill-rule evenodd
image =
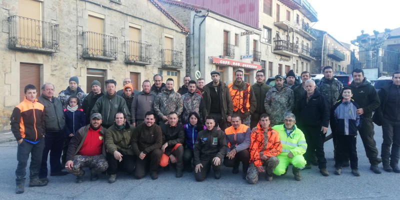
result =
M116 60L117 37L92 31L86 31L82 34L83 57L103 60Z

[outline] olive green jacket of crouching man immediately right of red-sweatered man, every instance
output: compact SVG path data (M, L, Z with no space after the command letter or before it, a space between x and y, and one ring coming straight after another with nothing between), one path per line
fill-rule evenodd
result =
M107 131L105 131L105 147L108 152L113 154L114 151L120 152L122 155L134 155L133 149L130 145L130 140L133 135L134 126L130 125L127 121L125 127L118 130L114 125L111 125Z

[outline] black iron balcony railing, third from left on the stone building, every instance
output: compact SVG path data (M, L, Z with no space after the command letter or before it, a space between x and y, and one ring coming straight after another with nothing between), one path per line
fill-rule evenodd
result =
M151 45L137 41L125 41L125 62L151 63Z

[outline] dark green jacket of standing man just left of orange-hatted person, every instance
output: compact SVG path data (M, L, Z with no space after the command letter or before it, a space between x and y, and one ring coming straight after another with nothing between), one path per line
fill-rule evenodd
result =
M129 109L126 106L125 99L120 95L115 95L112 99L109 99L107 94L101 96L97 99L96 103L91 109L90 115L94 112L98 112L101 114L101 125L105 128L108 128L112 124L114 124L115 114L117 112L125 113L126 121L130 123Z

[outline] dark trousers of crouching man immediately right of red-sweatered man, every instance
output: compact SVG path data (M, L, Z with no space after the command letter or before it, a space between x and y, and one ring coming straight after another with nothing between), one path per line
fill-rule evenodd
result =
M116 174L118 165L122 166L123 170L125 170L127 174L133 173L134 159L134 155L122 154L122 160L119 162L119 160L115 159L113 154L107 152L108 174Z

